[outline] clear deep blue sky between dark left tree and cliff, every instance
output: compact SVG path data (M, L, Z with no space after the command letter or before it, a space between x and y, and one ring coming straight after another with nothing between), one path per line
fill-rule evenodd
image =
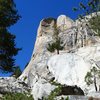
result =
M43 18L57 18L65 14L72 19L77 13L72 8L79 5L81 0L14 0L16 8L22 18L10 28L10 32L16 35L16 44L22 47L22 51L16 56L16 65L23 70L30 60L37 35L39 22Z

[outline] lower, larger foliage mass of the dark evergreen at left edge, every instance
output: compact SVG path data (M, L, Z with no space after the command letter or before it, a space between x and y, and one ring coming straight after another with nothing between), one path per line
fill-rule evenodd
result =
M13 71L15 59L20 48L16 48L15 35L10 34L7 29L0 28L0 70Z

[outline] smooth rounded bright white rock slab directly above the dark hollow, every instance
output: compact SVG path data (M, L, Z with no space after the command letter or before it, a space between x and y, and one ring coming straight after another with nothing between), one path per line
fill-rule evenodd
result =
M78 55L66 53L50 58L48 66L59 83L82 87L91 65Z

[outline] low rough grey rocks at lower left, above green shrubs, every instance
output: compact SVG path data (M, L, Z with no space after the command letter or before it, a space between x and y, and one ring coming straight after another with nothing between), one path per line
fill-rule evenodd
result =
M6 94L8 92L28 93L29 90L27 84L14 77L0 78L0 94Z

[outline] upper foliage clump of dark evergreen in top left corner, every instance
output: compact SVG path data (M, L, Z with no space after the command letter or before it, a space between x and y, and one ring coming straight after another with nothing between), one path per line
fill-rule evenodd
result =
M9 27L19 20L13 0L0 0L0 27Z

